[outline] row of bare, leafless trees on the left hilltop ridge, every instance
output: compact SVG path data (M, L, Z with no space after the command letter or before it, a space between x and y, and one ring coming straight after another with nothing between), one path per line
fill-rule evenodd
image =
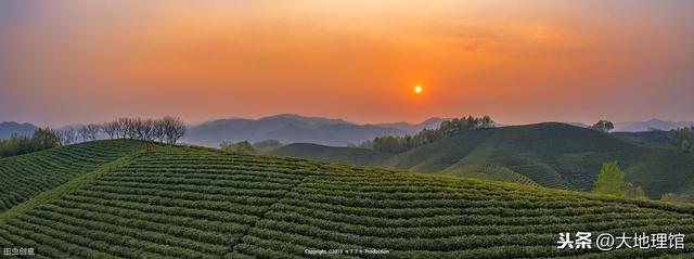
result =
M93 141L101 133L111 139L134 139L146 142L158 141L176 144L185 134L185 124L179 118L166 116L160 119L119 118L101 125L85 125L56 131L60 145L82 141Z

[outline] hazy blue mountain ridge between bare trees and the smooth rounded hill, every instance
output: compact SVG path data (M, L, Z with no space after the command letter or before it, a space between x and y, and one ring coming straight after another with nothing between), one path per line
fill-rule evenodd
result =
M259 119L218 119L191 126L184 142L219 146L222 141L279 140L282 143L314 143L346 146L383 135L413 134L424 128L437 128L444 118L430 118L421 124L408 122L359 125L343 119L281 114Z

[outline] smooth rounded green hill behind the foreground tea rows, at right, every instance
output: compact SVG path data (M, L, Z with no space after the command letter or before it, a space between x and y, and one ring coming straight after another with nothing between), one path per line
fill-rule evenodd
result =
M592 190L603 163L617 160L627 181L651 197L665 192L694 194L694 156L678 148L638 142L565 124L477 130L389 155L363 150L301 144L275 155L381 166L420 172L505 180L576 191ZM332 154L338 153L338 156ZM377 157L363 163L364 157ZM359 159L350 159L357 157Z

